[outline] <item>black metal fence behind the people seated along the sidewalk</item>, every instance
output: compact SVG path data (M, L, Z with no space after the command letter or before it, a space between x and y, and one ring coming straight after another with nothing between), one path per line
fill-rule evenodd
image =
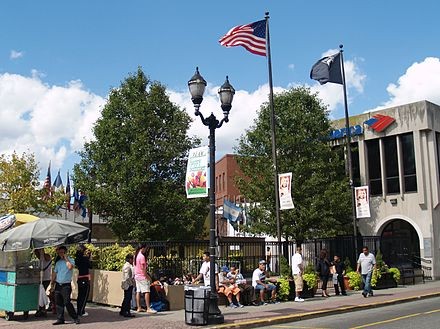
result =
M121 246L133 245L136 242L119 243ZM150 268L155 277L182 277L192 273L197 274L202 263L202 254L209 251L208 240L195 241L148 241L148 257ZM110 246L112 243L95 243L97 247ZM315 265L321 249L326 249L329 257L338 255L344 261L348 259L351 266L356 265L356 258L362 246L368 246L376 253L380 248L380 238L375 236L359 237L358 251L354 250L352 236L338 236L333 238L313 239L302 243L303 257L306 263ZM296 250L295 242L282 242L282 254L291 263L292 255ZM274 274L280 273L280 257L278 242L267 242L264 238L237 238L223 237L218 240L216 251L217 264L235 265L244 276L250 277L261 259L266 260L269 269Z

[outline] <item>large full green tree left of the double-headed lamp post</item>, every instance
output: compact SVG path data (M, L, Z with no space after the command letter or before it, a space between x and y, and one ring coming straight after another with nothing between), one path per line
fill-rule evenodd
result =
M207 200L188 200L184 189L188 151L199 143L187 136L190 122L141 69L111 90L74 180L119 239L189 239L203 230Z

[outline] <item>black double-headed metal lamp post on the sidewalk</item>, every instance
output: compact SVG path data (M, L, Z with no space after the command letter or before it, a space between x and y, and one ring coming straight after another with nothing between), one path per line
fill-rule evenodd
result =
M216 227L215 227L215 130L223 125L223 122L229 121L229 111L232 108L232 99L234 98L235 90L229 84L226 76L225 83L220 87L218 94L220 96L221 108L223 110L223 118L219 121L213 113L207 118L199 111L200 104L203 101L203 93L205 92L206 81L199 73L199 68L196 68L196 73L191 80L188 81L189 92L191 93L191 100L194 104L195 115L199 116L202 123L209 127L209 278L211 285L211 298L209 305L208 322L223 323L224 317L218 308L218 295L216 289L215 278L215 259L216 259Z

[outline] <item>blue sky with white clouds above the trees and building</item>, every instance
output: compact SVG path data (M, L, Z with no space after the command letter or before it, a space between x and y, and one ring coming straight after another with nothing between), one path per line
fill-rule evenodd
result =
M231 121L217 132L232 152L267 100L267 61L218 39L270 12L276 91L307 85L333 118L341 87L310 80L313 63L344 44L350 114L421 99L440 103L437 1L21 1L0 2L0 154L35 153L44 178L78 160L111 88L141 66L192 115L187 81L208 81L202 111L220 115L217 89L237 90ZM190 133L207 143L195 122Z

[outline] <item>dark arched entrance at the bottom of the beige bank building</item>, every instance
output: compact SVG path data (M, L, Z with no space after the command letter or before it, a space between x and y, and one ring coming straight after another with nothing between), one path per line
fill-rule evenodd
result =
M420 267L419 237L414 227L401 219L389 222L381 239L383 260L392 267Z

